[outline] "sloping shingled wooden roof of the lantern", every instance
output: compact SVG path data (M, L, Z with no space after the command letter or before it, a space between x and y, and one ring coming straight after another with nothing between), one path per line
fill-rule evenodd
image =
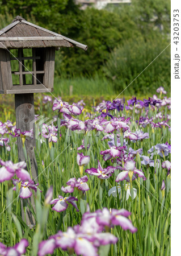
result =
M21 16L0 30L0 48L41 48L79 47L86 51L87 46L46 28L27 22Z

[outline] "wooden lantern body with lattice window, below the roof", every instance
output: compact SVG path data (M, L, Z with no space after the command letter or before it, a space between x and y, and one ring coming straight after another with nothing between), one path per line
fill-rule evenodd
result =
M18 49L18 57L10 57L10 51L0 49L0 93L52 92L54 79L55 48L32 48L32 57L24 57ZM19 60L19 71L11 71L11 60ZM24 60L32 59L32 71L25 71ZM23 64L23 65L22 65ZM12 84L12 74L19 75L19 85ZM32 74L32 84L26 84L25 75Z

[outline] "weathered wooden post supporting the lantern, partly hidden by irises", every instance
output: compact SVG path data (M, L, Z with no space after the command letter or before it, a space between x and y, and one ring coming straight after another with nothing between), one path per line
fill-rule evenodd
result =
M16 128L21 131L30 131L31 127L33 127L33 138L27 137L25 141L25 147L27 156L30 158L31 166L31 174L32 178L36 179L37 183L37 163L35 158L36 141L35 141L35 108L34 108L34 98L33 93L26 94L15 94L15 110L16 110ZM18 158L19 162L26 160L23 152L23 142L22 138L17 137L18 142ZM33 209L35 210L35 201L33 200L33 196L30 198ZM23 204L27 204L27 200L21 201L22 205L22 218L24 219L24 210ZM28 205L27 205L28 206ZM26 213L26 222L27 225L32 228L35 225L35 218L27 207Z

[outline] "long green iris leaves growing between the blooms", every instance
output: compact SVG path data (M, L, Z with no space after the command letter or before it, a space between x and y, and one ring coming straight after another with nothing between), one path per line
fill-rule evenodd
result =
M45 108L42 105L39 106L40 114L41 109ZM47 106L47 115L53 116L55 113ZM162 109L162 113L166 114L167 109ZM117 112L115 115L119 114ZM138 115L132 112L123 111L123 115L138 119ZM149 110L149 116L155 115L155 113ZM60 117L59 117L60 118ZM86 113L82 113L80 119L85 119ZM157 120L158 121L158 120ZM159 120L160 121L160 120ZM56 125L56 123L54 123ZM115 178L119 171L110 177L108 180L104 180L100 183L100 180L95 176L89 176L90 190L86 192L86 198L83 198L78 191L74 191L73 196L78 198L78 208L80 212L76 212L75 209L69 207L66 212L57 213L44 205L45 193L50 185L53 185L53 199L58 195L64 195L61 192L62 185L66 185L66 182L70 177L78 178L80 176L78 165L76 162L77 147L82 144L82 139L85 139L85 143L90 144L89 150L83 150L83 154L90 155L90 163L86 168L97 167L97 160L103 167L111 166L111 160L104 162L100 151L108 148L107 140L102 141L103 134L99 137L95 136L95 131L92 131L92 136L85 133L71 133L68 135L65 127L60 127L60 119L57 121L58 131L62 134L61 139L57 143L53 143L52 147L47 140L41 144L40 138L36 137L36 160L38 165L39 174L39 188L42 193L37 193L36 198L36 211L32 210L32 214L36 220L36 228L30 230L26 224L22 221L20 214L20 199L16 198L16 193L12 192L11 181L5 181L0 184L1 203L0 215L1 223L1 238L0 242L5 243L8 246L15 245L20 241L20 238L27 238L30 246L28 246L26 255L36 255L38 242L48 239L49 236L56 234L58 230L66 231L68 226L74 226L81 222L82 214L85 212L85 203L89 203L90 210L93 212L96 209L102 209L103 207L125 208L129 210L131 214L131 220L133 225L136 226L138 231L134 234L121 229L119 226L112 230L113 234L119 241L116 245L111 246L108 250L108 255L170 255L170 176L167 176L165 169L162 169L160 164L156 172L153 167L147 168L141 166L140 158L136 158L136 167L144 171L147 178L146 181L138 179L133 181L133 187L137 189L136 199L129 197L128 201L124 200L124 186L125 181L121 182L121 188L124 192L119 197L108 196L108 190L117 185ZM138 128L134 123L132 131ZM39 133L39 126L36 126L36 133ZM134 150L142 147L143 155L148 155L148 150L151 146L157 143L170 143L170 131L168 128L153 130L150 126L142 129L144 132L149 133L149 139L145 139L143 142L130 142L129 146ZM11 151L6 151L5 147L0 147L0 158L3 160L12 160L12 162L18 162L17 146L15 144L16 139L10 138ZM163 158L157 155L157 159L163 162ZM170 160L170 155L166 157ZM44 161L44 166L41 162ZM154 156L154 160L156 160ZM28 161L28 159L27 159ZM116 166L114 163L113 165ZM46 168L46 169L45 169ZM162 196L161 185L162 180L165 180L166 191L165 196ZM9 203L9 208L6 209ZM7 230L9 230L7 232ZM53 255L68 255L60 249L54 251ZM99 254L99 255L107 255Z

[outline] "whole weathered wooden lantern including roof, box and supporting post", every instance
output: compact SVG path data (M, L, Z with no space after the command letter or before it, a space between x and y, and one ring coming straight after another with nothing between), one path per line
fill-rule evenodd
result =
M16 16L11 24L0 30L0 93L15 94L17 129L30 131L30 124L34 123L33 93L53 91L56 49L74 46L87 49L84 44L27 22L21 16ZM18 137L17 142L19 161L26 160L22 139ZM33 138L26 139L25 146L32 178L37 183L35 124ZM32 197L31 200L35 209ZM26 219L29 226L35 225L29 210Z

